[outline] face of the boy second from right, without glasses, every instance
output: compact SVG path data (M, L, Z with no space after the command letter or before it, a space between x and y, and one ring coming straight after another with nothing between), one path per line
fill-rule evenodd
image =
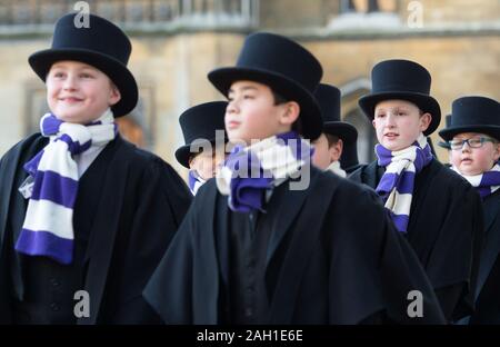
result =
M379 143L394 151L413 145L430 121L430 113L420 116L420 109L414 103L384 100L377 105L372 123Z

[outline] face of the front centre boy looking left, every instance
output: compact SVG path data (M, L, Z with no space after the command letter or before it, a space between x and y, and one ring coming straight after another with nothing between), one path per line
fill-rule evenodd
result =
M253 81L237 81L228 92L226 130L231 142L261 140L290 131L299 116L294 101L274 105L271 89Z

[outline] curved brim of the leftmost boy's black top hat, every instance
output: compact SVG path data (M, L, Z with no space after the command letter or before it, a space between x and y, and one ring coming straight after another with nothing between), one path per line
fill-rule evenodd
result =
M52 65L61 60L74 60L88 63L103 73L120 90L120 101L111 106L114 117L121 117L136 107L139 91L132 73L117 59L87 49L47 49L31 54L28 59L33 71L46 81Z

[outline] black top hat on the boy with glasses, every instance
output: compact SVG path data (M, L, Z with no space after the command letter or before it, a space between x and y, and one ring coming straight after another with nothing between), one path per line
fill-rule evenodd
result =
M460 132L487 133L500 141L500 103L486 97L463 97L451 105L451 123L439 131L444 141Z

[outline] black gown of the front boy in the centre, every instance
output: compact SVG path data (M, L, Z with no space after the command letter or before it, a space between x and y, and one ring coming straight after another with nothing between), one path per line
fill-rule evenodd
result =
M236 214L227 199L213 179L200 188L144 290L167 324L233 323L224 319L233 272L227 221ZM254 323L444 321L417 257L368 189L311 168L306 190L284 182L264 208L260 226L270 237L260 260L269 311ZM414 289L423 294L423 318L407 315Z

